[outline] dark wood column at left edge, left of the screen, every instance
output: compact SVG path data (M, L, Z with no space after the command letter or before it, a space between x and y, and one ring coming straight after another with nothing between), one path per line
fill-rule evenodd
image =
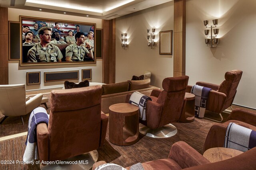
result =
M0 84L8 84L8 8L0 7Z

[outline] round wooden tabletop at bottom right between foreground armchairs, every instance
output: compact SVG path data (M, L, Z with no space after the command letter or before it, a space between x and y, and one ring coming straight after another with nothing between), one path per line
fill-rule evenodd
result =
M241 153L244 153L240 150L230 149L230 148L210 148L207 149L203 156L208 159L210 162L218 162L222 160L226 160L229 158L232 158L234 156L237 156Z

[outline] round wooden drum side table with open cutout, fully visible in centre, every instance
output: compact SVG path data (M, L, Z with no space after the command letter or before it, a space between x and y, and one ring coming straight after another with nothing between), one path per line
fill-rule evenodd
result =
M119 103L109 107L109 141L115 145L128 146L139 137L139 107Z

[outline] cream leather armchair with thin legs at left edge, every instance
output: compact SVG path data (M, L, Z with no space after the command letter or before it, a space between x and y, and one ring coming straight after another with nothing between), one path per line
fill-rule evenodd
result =
M22 115L40 106L43 98L42 94L26 97L25 84L0 85L0 94L0 110L5 115L0 124L9 116L20 116L24 125Z

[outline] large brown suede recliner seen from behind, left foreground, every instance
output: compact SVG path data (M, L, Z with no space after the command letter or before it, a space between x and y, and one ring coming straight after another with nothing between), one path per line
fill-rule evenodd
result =
M37 126L40 161L64 160L104 145L108 117L101 86L52 90L50 118Z

